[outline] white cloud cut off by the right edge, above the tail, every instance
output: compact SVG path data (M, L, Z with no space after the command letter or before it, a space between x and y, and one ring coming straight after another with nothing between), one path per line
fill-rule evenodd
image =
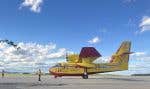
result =
M150 17L143 16L141 23L139 24L139 27L141 28L140 32L145 32L150 30Z

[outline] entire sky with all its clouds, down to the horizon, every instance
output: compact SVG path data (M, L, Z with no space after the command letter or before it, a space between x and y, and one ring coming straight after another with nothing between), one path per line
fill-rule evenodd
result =
M32 72L65 61L65 53L93 46L108 61L121 42L130 40L129 70L150 71L149 0L1 0L0 69ZM118 73L118 72L115 72Z

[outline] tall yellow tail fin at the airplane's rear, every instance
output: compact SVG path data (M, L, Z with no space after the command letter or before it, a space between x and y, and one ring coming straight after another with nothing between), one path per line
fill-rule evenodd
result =
M129 54L131 54L130 49L130 41L122 42L117 52L112 55L110 63L119 63L123 70L128 69Z

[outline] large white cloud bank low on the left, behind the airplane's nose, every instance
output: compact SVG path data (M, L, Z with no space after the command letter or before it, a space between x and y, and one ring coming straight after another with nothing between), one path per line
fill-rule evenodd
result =
M23 43L17 44L21 49L0 43L0 69L9 71L33 71L38 67L46 67L47 71L51 63L64 60L66 49L56 49L56 44Z

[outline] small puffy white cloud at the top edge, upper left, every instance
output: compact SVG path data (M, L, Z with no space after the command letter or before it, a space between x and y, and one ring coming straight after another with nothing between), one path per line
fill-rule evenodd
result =
M31 11L39 13L41 11L41 4L43 0L24 0L21 7L29 7Z

